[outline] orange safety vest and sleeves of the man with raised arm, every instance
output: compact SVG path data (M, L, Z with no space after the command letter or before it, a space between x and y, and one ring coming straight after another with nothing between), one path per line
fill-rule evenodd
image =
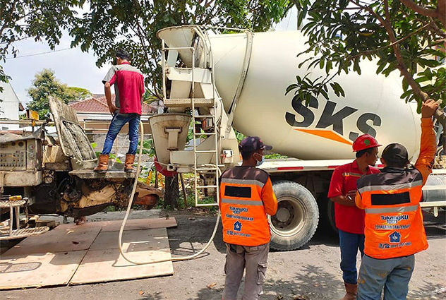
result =
M358 179L356 206L366 212L364 253L378 259L411 256L428 248L423 227L421 188L435 156L431 119L421 119L421 148L415 169L386 167Z

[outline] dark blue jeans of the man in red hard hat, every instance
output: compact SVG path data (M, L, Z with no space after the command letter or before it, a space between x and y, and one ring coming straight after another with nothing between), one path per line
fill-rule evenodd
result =
M351 234L339 230L339 246L341 248L342 279L346 283L356 284L358 270L356 270L356 255L361 251L364 255L364 235Z

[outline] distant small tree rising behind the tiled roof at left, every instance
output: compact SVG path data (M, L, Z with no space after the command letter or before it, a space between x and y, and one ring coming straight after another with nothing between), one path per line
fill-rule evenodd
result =
M39 112L40 119L46 119L49 116L49 96L68 103L83 100L91 95L91 92L84 88L68 87L68 85L60 83L54 76L54 71L45 68L35 75L32 86L28 89L28 95L32 98L32 101L27 105L28 109Z

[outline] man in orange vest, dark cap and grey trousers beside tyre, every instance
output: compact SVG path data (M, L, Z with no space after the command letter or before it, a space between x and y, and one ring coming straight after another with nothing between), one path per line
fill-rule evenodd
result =
M239 144L243 163L227 169L220 179L219 208L227 248L223 300L237 299L245 269L243 299L263 294L271 239L267 214L275 215L277 200L270 176L256 166L263 162L263 150L271 149L258 136L248 136Z

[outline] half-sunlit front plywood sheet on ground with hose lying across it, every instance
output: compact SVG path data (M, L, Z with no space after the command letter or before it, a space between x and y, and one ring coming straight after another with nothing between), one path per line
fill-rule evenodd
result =
M129 258L136 261L171 258L167 229L135 230L126 233L128 235L124 236L124 241L130 242L123 243L123 251ZM101 243L104 247L114 248L89 250L70 284L129 280L174 273L171 262L147 265L128 263L117 248L117 232L102 232L102 236L98 238L98 244L93 246L94 248L100 248Z

